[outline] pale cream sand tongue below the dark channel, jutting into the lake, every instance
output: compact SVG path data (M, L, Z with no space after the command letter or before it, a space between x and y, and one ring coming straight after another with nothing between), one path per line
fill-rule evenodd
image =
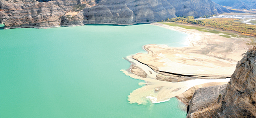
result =
M142 86L141 88L136 89L132 93L130 93L130 95L128 96L129 103L146 104L148 101L148 98L153 98L153 99L150 99L150 102L152 103L165 102L165 101L169 101L170 98L173 98L179 94L186 92L189 88L194 87L196 85L216 83L216 82L227 83L230 80L230 78L226 78L226 79L192 79L192 80L187 80L182 82L160 81L155 78L155 76L158 73L154 72L147 65L143 65L139 63L138 61L132 59L131 56L127 56L125 59L131 63L131 66L132 65L139 66L148 75L147 77L141 77L139 75L136 75L131 72L131 68L127 70L123 70L123 69L120 70L126 76L130 76L131 78L145 81L145 82L139 83L139 85Z

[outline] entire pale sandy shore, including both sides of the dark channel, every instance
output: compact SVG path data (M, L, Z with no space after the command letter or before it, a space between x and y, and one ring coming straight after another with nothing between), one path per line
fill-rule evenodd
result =
M149 44L144 46L148 53L126 57L132 65L130 69L122 71L130 77L146 81L140 83L146 86L134 90L128 96L130 103L141 104L148 100L159 103L194 86L207 87L219 85L219 82L225 84L229 81L227 77L234 72L237 61L250 48L247 43L251 40L248 38L226 38L219 36L220 34L160 23L151 25L189 34L187 47L171 48ZM200 86L201 84L204 85ZM188 94L191 92L185 92L181 96Z

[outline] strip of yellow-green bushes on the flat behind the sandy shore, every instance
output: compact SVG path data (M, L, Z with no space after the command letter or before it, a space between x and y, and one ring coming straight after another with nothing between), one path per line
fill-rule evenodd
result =
M255 25L248 25L242 22L237 22L235 18L212 18L212 19L202 19L202 20L195 20L193 16L189 17L176 17L167 19L167 22L177 22L182 24L198 24L201 26L211 27L211 28L218 28L222 30L230 30L230 31L237 31L239 33L245 33L249 35L256 36L256 26Z

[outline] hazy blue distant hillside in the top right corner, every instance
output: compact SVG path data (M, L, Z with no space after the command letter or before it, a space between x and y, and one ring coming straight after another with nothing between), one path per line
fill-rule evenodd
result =
M236 9L256 9L256 0L212 0L221 5Z

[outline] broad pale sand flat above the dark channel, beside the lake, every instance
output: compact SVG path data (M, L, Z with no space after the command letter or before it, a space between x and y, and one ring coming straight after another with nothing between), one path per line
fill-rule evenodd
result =
M243 53L251 47L247 45L250 42L248 38L226 38L219 36L219 34L168 26L160 23L152 23L151 25L189 34L187 41L184 42L187 45L186 47L148 44L144 46L144 49L148 52L147 54L137 53L132 56L133 59L149 65L154 70L160 72L199 75L223 75L226 72L225 75L230 76L234 72L237 61L241 60ZM167 69L171 67L170 63L172 65L188 67L190 70L186 69L188 71L184 72L184 70ZM210 64L211 66L208 66ZM204 70L208 69L211 71L213 67L218 69L225 68L225 71L192 71L191 67L200 67L201 69L204 68Z

